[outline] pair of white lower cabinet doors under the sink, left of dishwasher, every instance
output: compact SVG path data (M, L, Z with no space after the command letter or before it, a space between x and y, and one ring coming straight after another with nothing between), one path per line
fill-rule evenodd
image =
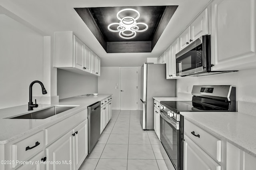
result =
M78 170L88 154L87 120L46 148L46 170Z

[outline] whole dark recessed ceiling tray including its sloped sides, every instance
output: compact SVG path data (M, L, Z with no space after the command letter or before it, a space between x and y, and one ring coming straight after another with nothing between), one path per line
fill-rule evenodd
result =
M74 9L107 53L142 53L152 51L177 8L119 6ZM116 24L110 29L116 32L108 29L112 23Z

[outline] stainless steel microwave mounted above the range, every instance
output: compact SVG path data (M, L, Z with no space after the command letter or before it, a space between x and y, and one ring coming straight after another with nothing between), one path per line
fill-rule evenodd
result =
M232 71L211 71L210 35L201 36L176 54L176 76L202 76Z

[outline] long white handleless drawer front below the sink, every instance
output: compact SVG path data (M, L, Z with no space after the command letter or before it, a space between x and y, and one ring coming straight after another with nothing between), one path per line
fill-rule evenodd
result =
M87 109L73 115L61 122L56 123L46 129L44 129L45 145L54 142L68 130L73 128L77 123L87 119Z

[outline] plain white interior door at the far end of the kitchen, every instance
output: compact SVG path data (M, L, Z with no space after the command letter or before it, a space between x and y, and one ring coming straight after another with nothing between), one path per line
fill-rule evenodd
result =
M138 109L137 67L120 67L120 109Z

